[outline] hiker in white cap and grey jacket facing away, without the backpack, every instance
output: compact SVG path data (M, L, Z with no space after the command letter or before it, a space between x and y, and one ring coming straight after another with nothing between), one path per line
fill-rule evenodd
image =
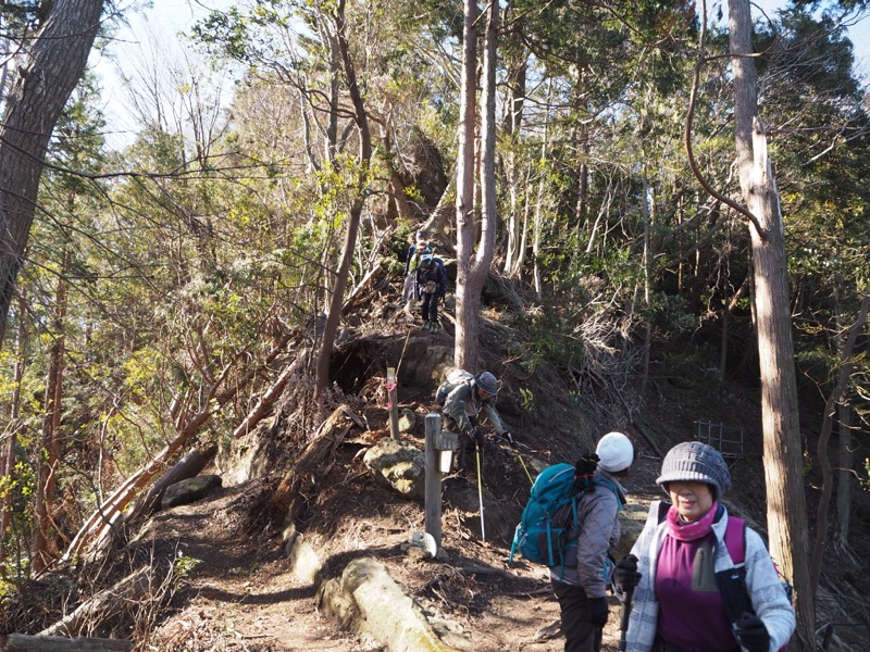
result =
M567 527L564 561L549 568L561 610L566 652L601 649L609 615L606 567L613 567L608 551L619 543L617 513L625 503L625 489L619 479L629 474L633 462L634 447L625 435L608 432L601 437L595 455L576 464L576 519L570 504L554 517L555 526Z

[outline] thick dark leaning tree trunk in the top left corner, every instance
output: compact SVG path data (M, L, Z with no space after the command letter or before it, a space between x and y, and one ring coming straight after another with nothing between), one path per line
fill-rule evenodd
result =
M78 83L102 0L54 0L18 66L0 123L0 341L30 225L51 131Z

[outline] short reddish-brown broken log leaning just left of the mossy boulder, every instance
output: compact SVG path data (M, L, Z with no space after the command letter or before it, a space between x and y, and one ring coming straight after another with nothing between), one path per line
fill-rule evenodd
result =
M328 472L328 468L323 468L324 460L332 456L356 425L359 425L359 419L350 408L339 405L318 428L314 438L272 496L272 502L286 510L289 518L296 518L302 511L320 478Z

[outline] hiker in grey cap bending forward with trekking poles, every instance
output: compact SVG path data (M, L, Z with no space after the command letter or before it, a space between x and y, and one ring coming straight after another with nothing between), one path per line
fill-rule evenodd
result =
M448 374L435 393L435 401L443 405L442 414L447 421L445 429L459 432L460 436L457 455L457 469L460 474L468 469L468 452L475 454L475 449L480 451L483 468L483 444L486 439L477 425L481 411L492 422L497 435L504 437L510 446L517 446L496 410L497 396L498 380L493 374L483 372L474 376L463 369Z

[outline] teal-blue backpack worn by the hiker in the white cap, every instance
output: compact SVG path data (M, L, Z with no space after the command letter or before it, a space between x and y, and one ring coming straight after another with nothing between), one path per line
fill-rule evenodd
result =
M620 500L619 491L609 480L596 479L592 482L589 472L579 482L573 464L561 463L548 466L535 478L529 502L513 534L509 561L512 562L519 551L523 559L535 564L564 565L568 551L577 544L576 538L567 540L569 530L577 524L577 499L593 490L595 485L600 485L613 491ZM571 511L570 518L566 517L569 516L566 510Z

